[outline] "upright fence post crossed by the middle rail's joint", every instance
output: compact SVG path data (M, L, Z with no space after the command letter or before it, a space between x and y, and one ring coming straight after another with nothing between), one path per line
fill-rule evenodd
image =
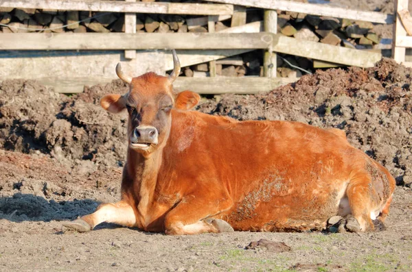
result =
M277 33L277 12L275 10L264 11L264 31ZM265 77L276 77L277 57L271 49L264 52L263 73Z

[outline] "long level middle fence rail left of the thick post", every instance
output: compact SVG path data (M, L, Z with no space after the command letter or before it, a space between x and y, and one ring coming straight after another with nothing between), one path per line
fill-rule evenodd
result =
M0 50L264 49L265 33L16 33L1 34ZM24 40L25 42L21 42Z

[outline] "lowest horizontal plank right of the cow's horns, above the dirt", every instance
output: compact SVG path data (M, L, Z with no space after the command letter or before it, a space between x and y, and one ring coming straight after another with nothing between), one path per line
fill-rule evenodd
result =
M173 86L176 90L192 90L200 94L254 94L270 92L297 79L284 77L178 77Z

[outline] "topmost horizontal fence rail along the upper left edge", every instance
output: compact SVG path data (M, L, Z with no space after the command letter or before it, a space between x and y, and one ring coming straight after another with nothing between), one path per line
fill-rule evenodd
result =
M47 10L87 10L95 12L161 13L187 15L231 15L233 5L200 3L159 3L124 1L0 0L2 8L36 8Z

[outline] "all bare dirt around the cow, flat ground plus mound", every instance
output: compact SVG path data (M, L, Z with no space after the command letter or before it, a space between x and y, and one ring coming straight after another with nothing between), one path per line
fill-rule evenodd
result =
M411 70L329 69L260 95L204 97L197 110L240 120L339 127L385 165L397 188L387 230L362 234L165 236L114 225L87 234L61 221L119 199L126 115L98 106L117 80L67 97L32 81L0 83L0 271L411 271ZM290 251L245 249L264 238Z

